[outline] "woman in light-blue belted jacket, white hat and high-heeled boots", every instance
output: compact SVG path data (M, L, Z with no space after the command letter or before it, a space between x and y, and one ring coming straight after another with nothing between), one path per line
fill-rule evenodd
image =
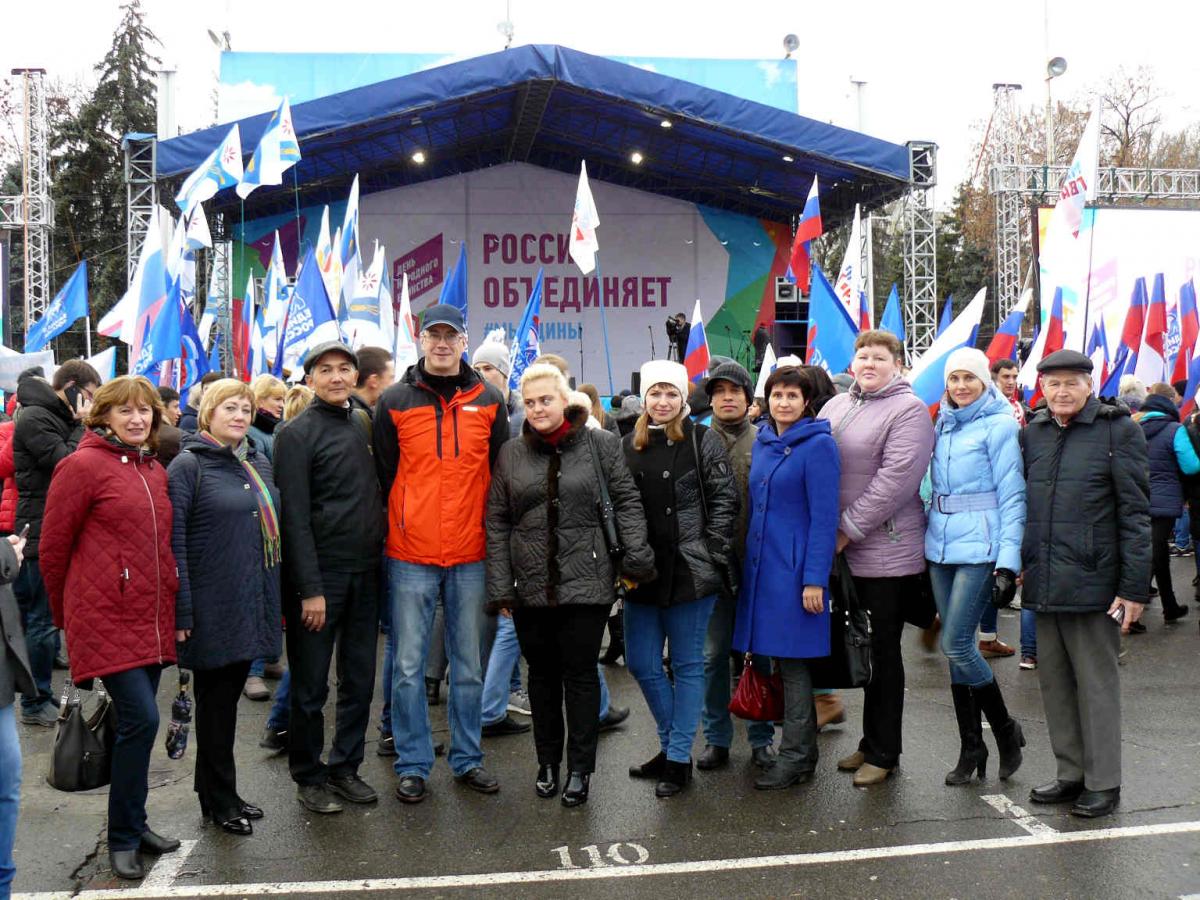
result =
M988 358L971 347L952 353L935 426L925 530L961 742L959 763L946 775L948 785L968 784L977 770L984 776L988 748L980 713L996 738L1000 776L1008 778L1021 764L1021 726L1009 716L976 641L992 594L1007 605L1021 570L1025 475L1018 432L1012 406L991 383Z

